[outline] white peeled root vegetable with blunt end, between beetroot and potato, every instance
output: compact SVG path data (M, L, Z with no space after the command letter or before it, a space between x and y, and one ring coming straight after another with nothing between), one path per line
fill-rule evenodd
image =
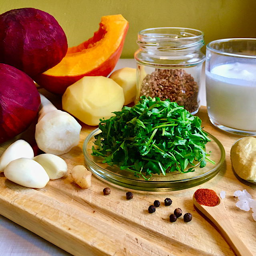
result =
M35 139L42 151L54 155L69 152L79 143L81 125L69 113L56 109L42 94Z

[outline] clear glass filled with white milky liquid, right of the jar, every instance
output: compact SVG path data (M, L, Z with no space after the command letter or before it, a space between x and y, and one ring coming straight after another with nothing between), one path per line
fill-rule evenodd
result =
M206 46L206 103L210 121L239 135L256 135L256 38Z

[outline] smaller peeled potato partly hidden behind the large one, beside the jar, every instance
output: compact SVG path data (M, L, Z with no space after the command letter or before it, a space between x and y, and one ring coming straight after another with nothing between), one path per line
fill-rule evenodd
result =
M124 105L134 102L136 96L136 69L118 69L109 78L123 88L123 94L125 95Z

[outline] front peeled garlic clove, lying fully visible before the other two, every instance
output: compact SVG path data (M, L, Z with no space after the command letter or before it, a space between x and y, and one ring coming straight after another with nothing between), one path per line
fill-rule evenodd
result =
M4 175L14 183L32 188L43 188L50 180L42 165L24 157L8 163L4 169Z

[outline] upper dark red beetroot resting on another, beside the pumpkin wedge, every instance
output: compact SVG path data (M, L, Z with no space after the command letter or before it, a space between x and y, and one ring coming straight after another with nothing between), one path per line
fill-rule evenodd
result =
M65 32L47 12L21 8L0 15L0 62L32 77L57 65L67 50Z

